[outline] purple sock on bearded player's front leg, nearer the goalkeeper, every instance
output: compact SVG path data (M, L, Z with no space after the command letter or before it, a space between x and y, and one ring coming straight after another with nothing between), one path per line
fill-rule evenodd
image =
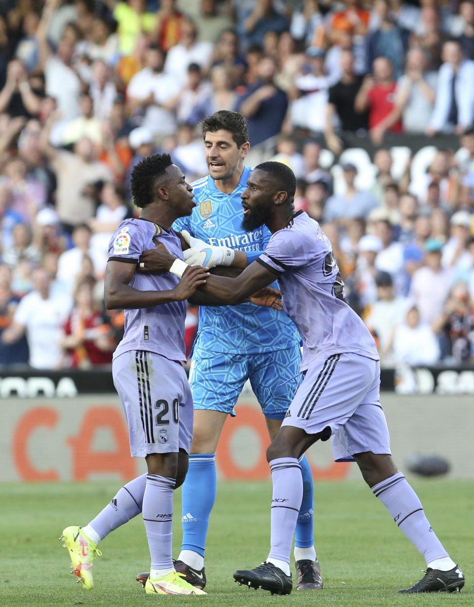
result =
M303 499L303 477L298 459L282 457L270 461L272 472L272 531L270 558L290 562L290 551Z

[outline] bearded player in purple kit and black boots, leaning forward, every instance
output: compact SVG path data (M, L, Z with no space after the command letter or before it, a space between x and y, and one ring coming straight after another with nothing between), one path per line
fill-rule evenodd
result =
M267 450L273 481L270 553L255 569L236 571L236 582L272 594L292 590L289 560L303 483L298 458L331 437L335 461L355 460L374 495L427 562L424 577L399 592L460 591L464 575L431 529L422 504L390 452L380 405L376 344L346 304L331 243L315 220L294 211L296 180L284 164L259 164L242 193L242 227L263 223L272 232L255 262L236 278L208 277L199 291L236 304L275 276L283 309L303 339L304 379ZM234 264L244 267L236 251ZM173 263L164 262L163 270Z

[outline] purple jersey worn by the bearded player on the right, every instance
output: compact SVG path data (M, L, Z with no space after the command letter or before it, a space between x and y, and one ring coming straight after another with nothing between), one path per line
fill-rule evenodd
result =
M283 310L303 339L302 371L331 354L379 360L373 337L346 304L331 243L318 222L298 212L286 228L272 234L257 261L278 276Z

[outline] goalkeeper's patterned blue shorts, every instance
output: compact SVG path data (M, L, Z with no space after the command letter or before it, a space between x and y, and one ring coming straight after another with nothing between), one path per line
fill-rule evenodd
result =
M258 354L213 352L194 345L189 381L194 409L211 409L235 416L235 404L250 379L264 415L283 419L300 381L301 348Z

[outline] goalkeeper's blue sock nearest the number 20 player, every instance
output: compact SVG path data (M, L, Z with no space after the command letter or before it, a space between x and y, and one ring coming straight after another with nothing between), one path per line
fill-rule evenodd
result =
M190 455L182 490L181 551L197 552L204 558L209 517L216 501L216 484L216 454ZM185 563L193 566L193 563L188 563L188 559Z

